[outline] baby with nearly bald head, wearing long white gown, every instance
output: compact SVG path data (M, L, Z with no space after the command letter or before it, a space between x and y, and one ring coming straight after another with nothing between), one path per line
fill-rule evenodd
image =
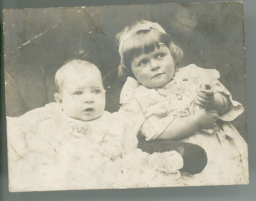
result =
M121 118L104 111L98 68L70 60L55 83L56 102L7 118L10 190L76 189L86 186L82 182L90 188L102 179L97 175L109 174L102 167L122 157Z

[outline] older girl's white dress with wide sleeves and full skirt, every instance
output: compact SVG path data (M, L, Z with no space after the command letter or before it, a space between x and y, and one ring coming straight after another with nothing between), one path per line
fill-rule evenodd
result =
M195 104L200 85L210 84L214 92L229 97L232 106L227 113L219 116L216 127L197 130L180 140L198 144L207 152L207 166L194 176L196 182L193 184L196 185L245 184L248 181L247 143L229 123L244 108L232 99L230 92L218 81L219 77L215 69L191 64L179 68L171 82L162 88L149 89L128 77L121 91L122 107L119 112L129 116L131 125L148 141L157 138L173 119L192 115L200 109Z

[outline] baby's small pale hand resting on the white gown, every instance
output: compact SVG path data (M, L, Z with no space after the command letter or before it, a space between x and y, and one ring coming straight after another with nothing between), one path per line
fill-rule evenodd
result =
M122 158L122 151L119 147L113 144L103 143L101 146L102 156L108 157L111 161L118 157Z

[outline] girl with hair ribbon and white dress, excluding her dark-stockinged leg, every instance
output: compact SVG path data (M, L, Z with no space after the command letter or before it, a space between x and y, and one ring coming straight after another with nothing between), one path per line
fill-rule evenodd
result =
M139 135L203 147L208 162L197 175L200 185L245 184L247 143L229 123L244 108L218 81L218 71L194 64L179 68L183 51L158 23L127 26L116 44L118 75L126 79L119 112L130 117Z

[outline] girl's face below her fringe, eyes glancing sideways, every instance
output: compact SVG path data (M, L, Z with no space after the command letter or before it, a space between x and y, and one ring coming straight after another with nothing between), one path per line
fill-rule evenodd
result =
M136 79L145 87L161 88L171 81L175 66L171 52L166 45L160 45L148 54L134 57L131 71Z

